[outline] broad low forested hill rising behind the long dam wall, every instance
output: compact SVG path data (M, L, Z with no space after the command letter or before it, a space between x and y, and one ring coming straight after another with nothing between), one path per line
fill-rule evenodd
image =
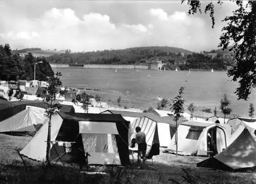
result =
M47 57L50 63L67 63L67 64L138 64L145 60L161 60L170 62L191 54L190 51L175 47L136 47L123 50L104 50L93 52L71 53L67 50L63 54L55 54Z

